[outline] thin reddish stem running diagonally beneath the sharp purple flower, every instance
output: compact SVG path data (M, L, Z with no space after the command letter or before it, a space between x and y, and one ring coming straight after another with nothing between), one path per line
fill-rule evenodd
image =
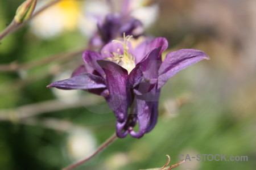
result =
M62 170L71 170L74 169L76 167L78 167L79 165L88 162L88 160L92 159L94 156L96 156L99 152L101 152L102 150L104 150L104 148L106 148L107 146L110 145L110 143L114 142L115 139L117 139L117 135L113 134L112 137L110 137L106 142L104 142L92 155L90 155L87 158L84 158L82 160L80 160L79 162L76 162L74 164L69 165L66 168L63 168Z

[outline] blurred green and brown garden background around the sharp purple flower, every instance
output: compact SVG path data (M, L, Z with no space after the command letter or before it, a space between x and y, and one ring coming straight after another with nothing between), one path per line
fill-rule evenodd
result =
M0 30L22 2L0 0ZM102 6L90 1L59 3L48 15L1 40L0 169L61 169L114 133L114 114L99 114L109 112L101 97L46 88L53 80L67 78L82 62L81 54L43 59L86 48L94 27L83 19L86 10L104 11L105 1L94 2ZM168 52L195 48L211 59L181 71L162 88L154 130L141 139L118 139L77 169L162 167L166 154L170 164L179 162L179 154L249 158L192 159L176 169L255 169L256 2L161 0L147 5L156 19L148 21L152 24L146 33L167 37Z

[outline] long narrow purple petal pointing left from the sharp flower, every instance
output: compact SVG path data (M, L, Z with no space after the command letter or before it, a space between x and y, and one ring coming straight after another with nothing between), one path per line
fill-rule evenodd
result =
M72 89L95 89L95 88L106 88L105 80L100 76L82 73L72 78L60 80L49 84L47 87L56 87L63 90Z

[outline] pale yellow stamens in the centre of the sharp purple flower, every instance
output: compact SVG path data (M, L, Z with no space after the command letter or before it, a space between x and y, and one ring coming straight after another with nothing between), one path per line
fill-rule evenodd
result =
M110 61L114 61L119 65L121 65L123 68L125 68L128 71L128 74L135 67L134 56L130 54L128 51L129 50L128 43L131 37L133 36L125 36L125 33L123 33L123 41L113 40L113 42L121 43L123 45L123 54L119 53L120 49L118 49L118 53L114 53L114 52L112 53L113 57L106 58L106 59L109 59Z

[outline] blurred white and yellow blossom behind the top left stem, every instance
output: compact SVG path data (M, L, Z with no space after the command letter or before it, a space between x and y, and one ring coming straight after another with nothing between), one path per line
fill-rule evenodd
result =
M49 3L49 0L39 1L36 11ZM31 22L31 31L36 36L48 39L63 31L77 28L82 15L81 1L60 1L36 16Z

